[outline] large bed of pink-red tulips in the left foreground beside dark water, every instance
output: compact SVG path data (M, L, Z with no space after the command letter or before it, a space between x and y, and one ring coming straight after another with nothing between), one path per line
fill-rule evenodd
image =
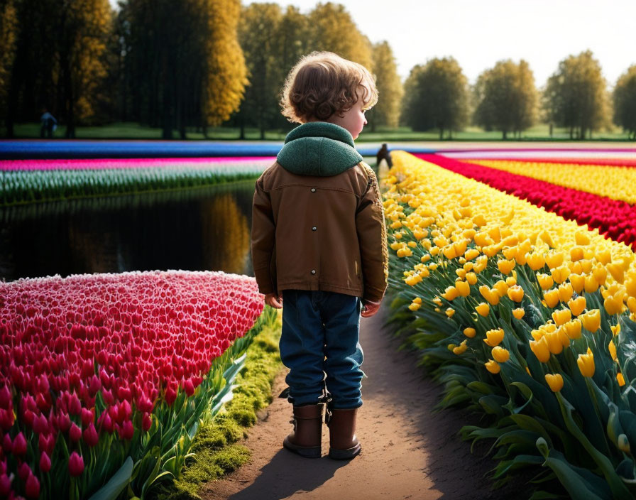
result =
M224 273L0 283L0 496L143 498L177 477L261 312L253 278Z

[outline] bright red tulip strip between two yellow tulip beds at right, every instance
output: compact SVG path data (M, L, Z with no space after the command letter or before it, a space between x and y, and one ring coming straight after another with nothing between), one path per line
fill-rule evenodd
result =
M565 219L573 219L581 225L587 224L616 241L636 244L636 205L484 166L483 161L478 161L478 164L477 161L457 161L444 156L424 154L417 157L528 200ZM552 168L547 166L552 164L542 165L547 170ZM630 170L636 172L634 169Z

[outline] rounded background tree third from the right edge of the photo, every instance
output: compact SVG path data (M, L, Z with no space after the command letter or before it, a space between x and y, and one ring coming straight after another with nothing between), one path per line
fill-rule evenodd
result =
M525 60L515 64L502 60L479 75L474 87L474 121L487 130L520 134L537 120L537 89L532 70Z

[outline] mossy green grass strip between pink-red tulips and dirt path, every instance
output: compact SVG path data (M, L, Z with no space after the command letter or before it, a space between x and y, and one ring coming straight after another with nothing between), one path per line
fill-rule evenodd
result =
M185 462L179 479L160 484L149 499L200 499L207 482L238 469L250 458L250 450L238 444L247 429L256 424L256 412L272 402L272 384L283 367L278 352L280 314L254 337L246 365L236 378L234 397L214 418L204 420L194 437L192 457Z

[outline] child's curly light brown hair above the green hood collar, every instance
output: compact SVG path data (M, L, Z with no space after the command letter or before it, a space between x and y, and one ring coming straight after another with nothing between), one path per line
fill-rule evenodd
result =
M376 102L378 89L366 67L331 52L313 52L302 57L287 75L280 99L283 116L300 124L307 121L340 124L338 121L347 112L357 109L363 114Z

